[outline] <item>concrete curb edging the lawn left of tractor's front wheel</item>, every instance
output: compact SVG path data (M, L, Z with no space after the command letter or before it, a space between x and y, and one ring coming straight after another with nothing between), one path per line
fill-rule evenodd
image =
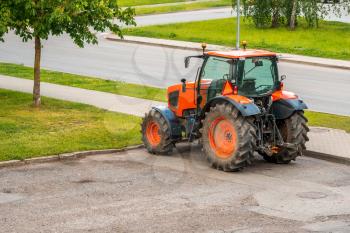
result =
M23 166L23 165L28 165L28 164L80 159L80 158L84 158L86 156L120 153L120 152L124 152L124 151L129 151L129 150L136 150L136 149L140 149L140 148L143 148L143 145L129 146L129 147L121 148L121 149L80 151L80 152L31 158L31 159L25 159L25 160L10 160L10 161L0 162L0 169L6 168L6 167Z

